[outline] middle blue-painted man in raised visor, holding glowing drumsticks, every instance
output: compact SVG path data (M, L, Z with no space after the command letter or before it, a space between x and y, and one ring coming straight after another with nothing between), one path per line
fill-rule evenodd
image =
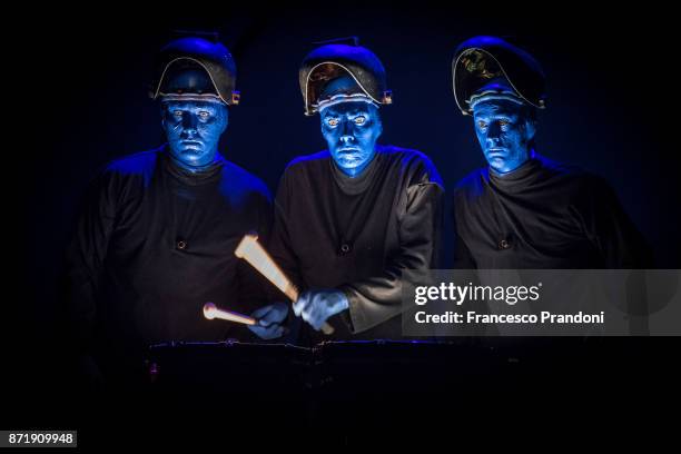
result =
M402 272L437 264L441 178L422 152L377 144L392 93L382 62L356 40L313 50L299 82L327 149L294 159L275 199L270 251L303 290L289 318L304 320L313 343L324 323L332 338L398 338ZM257 315L269 310L286 306Z

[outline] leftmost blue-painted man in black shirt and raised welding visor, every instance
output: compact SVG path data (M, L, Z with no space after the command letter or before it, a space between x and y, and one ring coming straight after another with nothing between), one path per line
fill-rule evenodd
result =
M243 313L263 304L234 250L249 231L267 236L270 196L219 149L235 81L221 43L168 43L151 87L167 144L115 160L89 188L67 254L68 300L75 340L105 378L138 379L149 344L254 337L201 312L206 302Z

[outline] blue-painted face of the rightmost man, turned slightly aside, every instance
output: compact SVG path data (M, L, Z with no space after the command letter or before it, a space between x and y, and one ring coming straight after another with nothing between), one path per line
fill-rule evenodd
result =
M526 107L507 99L481 100L473 107L473 121L493 170L507 174L527 161L535 126Z

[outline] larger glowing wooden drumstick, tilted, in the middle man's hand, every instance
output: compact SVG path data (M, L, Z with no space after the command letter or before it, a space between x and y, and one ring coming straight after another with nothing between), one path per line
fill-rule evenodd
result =
M298 288L284 274L282 268L277 266L269 254L267 254L267 250L258 243L257 235L245 235L234 254L248 261L250 266L273 283L275 287L282 290L293 303L298 300ZM334 327L325 323L322 325L322 332L326 335L333 334Z

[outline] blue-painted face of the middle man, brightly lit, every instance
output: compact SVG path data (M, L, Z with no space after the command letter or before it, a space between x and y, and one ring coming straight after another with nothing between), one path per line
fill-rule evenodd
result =
M338 168L356 177L376 155L376 140L383 132L378 108L364 101L346 101L319 112L322 136Z

